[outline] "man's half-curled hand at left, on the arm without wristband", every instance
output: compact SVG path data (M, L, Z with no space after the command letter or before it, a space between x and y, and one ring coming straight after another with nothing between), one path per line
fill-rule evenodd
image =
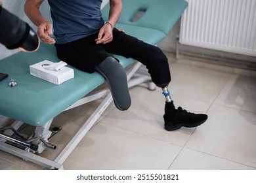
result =
M37 35L41 41L46 44L54 44L55 40L50 36L53 35L53 24L51 22L45 21L40 24L37 28Z

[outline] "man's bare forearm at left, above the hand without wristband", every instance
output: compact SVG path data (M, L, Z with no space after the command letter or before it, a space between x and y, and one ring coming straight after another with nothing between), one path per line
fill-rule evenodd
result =
M37 27L43 22L47 21L45 18L43 18L41 12L39 11L39 7L43 1L44 0L27 0L24 5L24 12L28 18L30 18L33 24L37 25Z

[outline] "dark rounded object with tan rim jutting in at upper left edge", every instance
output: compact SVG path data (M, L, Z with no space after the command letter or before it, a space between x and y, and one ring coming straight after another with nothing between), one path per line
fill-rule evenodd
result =
M1 6L0 43L8 49L20 48L24 52L33 52L39 47L39 39L32 27Z

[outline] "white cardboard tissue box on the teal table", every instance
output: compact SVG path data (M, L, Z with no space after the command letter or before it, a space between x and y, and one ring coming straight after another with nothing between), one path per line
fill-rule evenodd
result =
M43 67L43 65L51 64L53 64L52 61L45 59L44 61L30 65L30 75L37 76L53 84L62 84L62 82L74 78L74 69L69 67L62 67L58 71L50 71Z

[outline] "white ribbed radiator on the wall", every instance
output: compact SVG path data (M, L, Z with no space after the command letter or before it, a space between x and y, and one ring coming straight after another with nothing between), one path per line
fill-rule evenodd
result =
M187 0L180 42L256 56L256 0Z

